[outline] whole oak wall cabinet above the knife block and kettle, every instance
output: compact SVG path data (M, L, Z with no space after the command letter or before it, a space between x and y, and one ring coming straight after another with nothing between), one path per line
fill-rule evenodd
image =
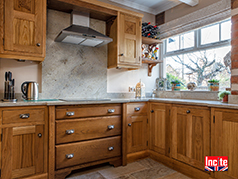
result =
M0 58L44 60L46 0L2 0L0 18Z

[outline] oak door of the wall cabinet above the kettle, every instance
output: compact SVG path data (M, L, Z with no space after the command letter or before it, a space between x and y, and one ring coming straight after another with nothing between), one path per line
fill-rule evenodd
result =
M44 1L5 0L6 51L43 54Z

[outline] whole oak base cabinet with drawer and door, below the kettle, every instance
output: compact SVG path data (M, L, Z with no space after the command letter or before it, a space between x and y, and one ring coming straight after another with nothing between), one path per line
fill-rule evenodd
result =
M11 107L1 109L1 177L48 178L47 107Z

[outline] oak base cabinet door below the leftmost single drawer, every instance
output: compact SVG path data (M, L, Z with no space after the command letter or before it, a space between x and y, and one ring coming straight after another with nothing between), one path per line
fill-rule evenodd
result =
M44 125L3 129L2 178L44 173Z

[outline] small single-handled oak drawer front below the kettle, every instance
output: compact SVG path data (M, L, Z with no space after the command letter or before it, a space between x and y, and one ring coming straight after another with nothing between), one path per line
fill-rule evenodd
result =
M2 111L3 124L43 122L45 109L8 109Z

